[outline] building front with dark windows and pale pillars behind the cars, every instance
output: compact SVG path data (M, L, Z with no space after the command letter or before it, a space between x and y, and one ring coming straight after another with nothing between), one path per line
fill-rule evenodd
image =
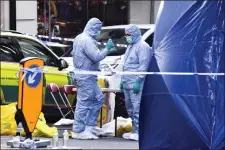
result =
M1 28L74 37L92 17L99 18L104 26L153 24L159 5L160 1L149 0L1 1Z

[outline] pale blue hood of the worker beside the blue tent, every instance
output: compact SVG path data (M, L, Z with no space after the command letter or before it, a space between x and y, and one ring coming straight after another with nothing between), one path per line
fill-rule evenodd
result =
M132 36L132 43L135 44L141 40L141 30L134 24L130 24L125 28L125 32L128 32Z

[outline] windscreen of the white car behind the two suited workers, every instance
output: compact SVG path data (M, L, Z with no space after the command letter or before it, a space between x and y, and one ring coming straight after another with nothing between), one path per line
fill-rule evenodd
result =
M143 35L145 32L147 32L149 29L141 29L141 35ZM127 42L124 37L125 31L124 29L103 29L101 30L101 34L96 38L98 41L99 49L104 49L105 48L105 43L107 42L108 39L112 39L116 51L110 52L108 56L120 56L123 55L126 51L127 48Z

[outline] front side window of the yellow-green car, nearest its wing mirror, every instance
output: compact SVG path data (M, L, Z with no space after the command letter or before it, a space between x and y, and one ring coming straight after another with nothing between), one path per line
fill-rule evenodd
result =
M46 66L54 66L57 67L56 59L54 55L52 55L48 49L46 49L41 44L25 39L25 38L16 38L18 44L21 48L21 51L24 57L38 57L42 58L45 61Z

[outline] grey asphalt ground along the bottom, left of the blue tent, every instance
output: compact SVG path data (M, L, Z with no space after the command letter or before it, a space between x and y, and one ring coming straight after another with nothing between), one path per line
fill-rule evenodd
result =
M7 146L7 141L12 139L10 136L1 136L1 149L15 149ZM42 138L49 139L51 138ZM59 138L59 145L62 145L62 138ZM137 141L127 141L122 138L103 137L98 140L75 140L69 139L67 149L138 149ZM62 147L59 147L62 149ZM47 149L51 149L49 146Z

